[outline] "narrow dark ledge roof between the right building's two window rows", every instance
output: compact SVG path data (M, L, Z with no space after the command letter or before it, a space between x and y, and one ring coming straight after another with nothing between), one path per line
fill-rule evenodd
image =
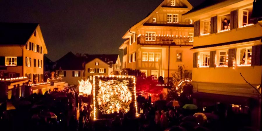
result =
M250 42L255 40L260 40L262 37L256 37L256 38L249 38L244 40L237 40L237 41L231 41L226 43L218 43L218 44L212 44L212 45L202 45L202 46L195 46L191 49L200 49L200 48L208 48L208 47L217 47L217 46L223 46L223 45L231 45L231 44L237 44L237 43L244 43L244 42Z

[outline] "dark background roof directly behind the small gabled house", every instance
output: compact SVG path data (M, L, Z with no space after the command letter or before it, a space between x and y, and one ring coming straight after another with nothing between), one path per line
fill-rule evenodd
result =
M86 62L92 61L95 58L99 58L100 60L104 61L105 63L109 63L112 61L113 64L116 63L118 59L118 54L84 54L86 56Z

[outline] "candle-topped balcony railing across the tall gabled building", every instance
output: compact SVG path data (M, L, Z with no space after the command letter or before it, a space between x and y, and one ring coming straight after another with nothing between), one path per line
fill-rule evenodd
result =
M178 45L178 46L193 46L193 38L185 36L138 36L137 44L140 45Z

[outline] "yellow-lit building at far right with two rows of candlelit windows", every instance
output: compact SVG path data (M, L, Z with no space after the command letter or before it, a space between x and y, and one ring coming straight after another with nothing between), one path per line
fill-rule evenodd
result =
M254 4L253 0L213 1L183 15L195 21L192 48L195 103L199 107L225 104L232 107L234 115L248 117L233 118L245 119L240 126L258 128L261 99L255 88L261 93L261 5L259 0Z

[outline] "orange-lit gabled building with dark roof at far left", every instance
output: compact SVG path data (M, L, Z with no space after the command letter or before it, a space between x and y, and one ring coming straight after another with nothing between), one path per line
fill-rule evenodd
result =
M29 83L43 82L47 49L39 24L0 23L0 34L0 78L27 77ZM24 84L16 83L12 89L8 85L8 98L15 90L16 97L23 96Z

